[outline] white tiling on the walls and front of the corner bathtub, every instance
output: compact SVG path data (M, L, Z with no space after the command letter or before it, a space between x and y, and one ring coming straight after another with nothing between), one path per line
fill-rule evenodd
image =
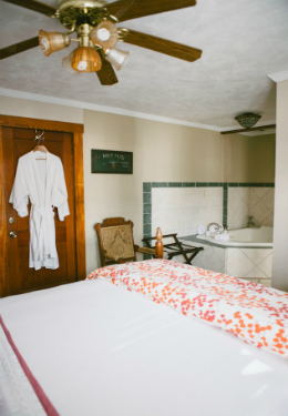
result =
M239 229L254 215L256 225L272 225L272 187L229 187L228 225ZM197 226L209 222L223 222L223 187L153 187L152 230L157 226L163 234L177 233L186 236L197 233ZM167 243L167 241L166 241ZM187 244L187 242L185 242ZM272 251L270 248L220 248L206 244L193 265L235 277L259 278L271 276ZM182 256L173 258L184 262Z

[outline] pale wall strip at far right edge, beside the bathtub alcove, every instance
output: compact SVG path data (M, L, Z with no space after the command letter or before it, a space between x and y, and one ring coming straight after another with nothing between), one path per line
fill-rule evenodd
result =
M288 81L277 83L272 287L288 291Z

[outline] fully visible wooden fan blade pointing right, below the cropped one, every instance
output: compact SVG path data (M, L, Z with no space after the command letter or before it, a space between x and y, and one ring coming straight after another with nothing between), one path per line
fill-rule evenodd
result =
M155 52L168 54L169 57L194 62L202 55L202 50L186 47L171 40L152 37L151 34L136 32L130 29L120 29L120 39L136 47L151 49Z

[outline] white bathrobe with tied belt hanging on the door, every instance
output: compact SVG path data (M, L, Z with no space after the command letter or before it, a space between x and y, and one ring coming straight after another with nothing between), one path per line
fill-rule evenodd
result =
M28 215L29 199L32 205L29 267L58 268L53 207L58 207L60 221L70 212L63 165L54 154L31 151L19 159L9 200L19 216Z

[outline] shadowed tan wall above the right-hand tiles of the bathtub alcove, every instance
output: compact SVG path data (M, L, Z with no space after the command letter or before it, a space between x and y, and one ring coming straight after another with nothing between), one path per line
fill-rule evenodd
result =
M275 133L249 138L249 182L275 181Z

